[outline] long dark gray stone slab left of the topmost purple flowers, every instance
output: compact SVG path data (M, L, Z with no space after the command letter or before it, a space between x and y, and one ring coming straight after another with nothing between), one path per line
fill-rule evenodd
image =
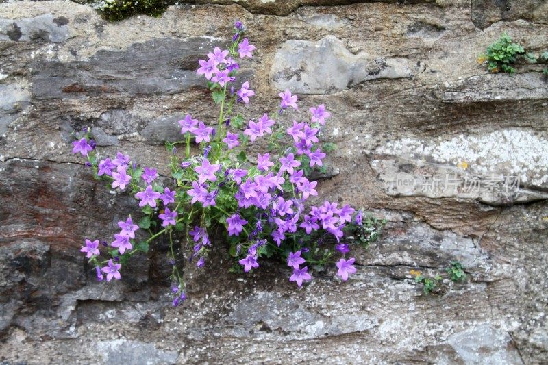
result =
M207 38L158 38L125 51L100 50L85 61L38 61L33 65L37 99L82 98L110 94L175 94L204 87L197 61L211 49Z

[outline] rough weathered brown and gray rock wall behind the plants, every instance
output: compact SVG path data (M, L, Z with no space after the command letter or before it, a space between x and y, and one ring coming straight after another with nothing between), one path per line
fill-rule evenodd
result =
M546 1L191 2L114 24L72 2L0 4L0 362L547 363L548 83L538 65L476 62L502 32L544 51ZM338 149L319 193L384 233L344 284L330 270L298 290L274 263L227 274L219 250L185 268L173 309L165 242L97 283L80 244L135 204L92 179L71 132L162 168L179 116L215 118L196 60L236 18L258 48L246 113L284 88L299 118L325 103ZM453 260L468 279L437 295L409 273Z

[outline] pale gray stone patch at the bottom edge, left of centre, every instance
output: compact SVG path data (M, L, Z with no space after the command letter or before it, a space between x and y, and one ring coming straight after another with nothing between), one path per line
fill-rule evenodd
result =
M179 357L175 351L163 351L151 343L125 339L99 341L97 351L105 364L174 364Z

